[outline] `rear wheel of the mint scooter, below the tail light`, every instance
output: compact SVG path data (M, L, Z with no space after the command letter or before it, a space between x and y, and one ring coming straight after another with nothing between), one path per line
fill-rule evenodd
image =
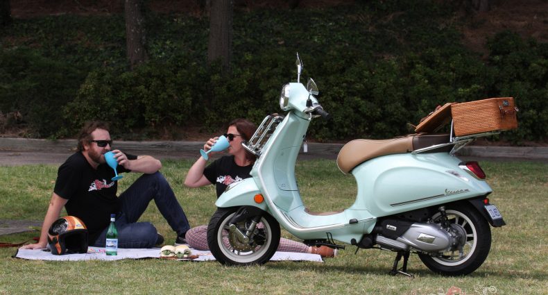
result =
M431 271L443 276L463 276L478 269L486 260L491 247L491 229L488 221L468 203L447 205L445 212L449 221L459 224L466 231L464 255L460 258L454 252L443 255L419 253L418 256ZM432 216L436 222L441 214Z

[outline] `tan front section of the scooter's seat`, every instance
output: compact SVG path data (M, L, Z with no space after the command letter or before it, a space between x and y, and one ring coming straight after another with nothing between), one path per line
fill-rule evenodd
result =
M367 160L393 153L413 151L413 136L395 137L391 140L352 140L343 146L337 156L337 166L344 174Z

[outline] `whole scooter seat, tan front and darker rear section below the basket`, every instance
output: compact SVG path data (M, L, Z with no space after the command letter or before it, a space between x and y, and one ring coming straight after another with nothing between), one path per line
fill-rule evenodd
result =
M352 171L354 167L367 160L391 155L393 153L411 153L418 149L438 144L447 144L448 134L413 134L403 137L395 137L391 140L352 140L343 146L337 156L337 166L344 174ZM440 146L430 152L449 151L452 146Z

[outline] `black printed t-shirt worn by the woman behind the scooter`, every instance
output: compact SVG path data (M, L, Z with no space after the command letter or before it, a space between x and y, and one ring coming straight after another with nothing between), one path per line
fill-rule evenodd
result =
M215 185L219 198L231 183L251 177L249 173L252 167L253 165L238 166L234 162L234 155L224 155L205 167L204 176Z

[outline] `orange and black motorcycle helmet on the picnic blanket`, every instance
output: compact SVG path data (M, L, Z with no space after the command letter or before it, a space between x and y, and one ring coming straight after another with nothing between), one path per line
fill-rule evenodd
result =
M61 217L49 228L48 244L54 255L87 253L87 228L78 217Z

